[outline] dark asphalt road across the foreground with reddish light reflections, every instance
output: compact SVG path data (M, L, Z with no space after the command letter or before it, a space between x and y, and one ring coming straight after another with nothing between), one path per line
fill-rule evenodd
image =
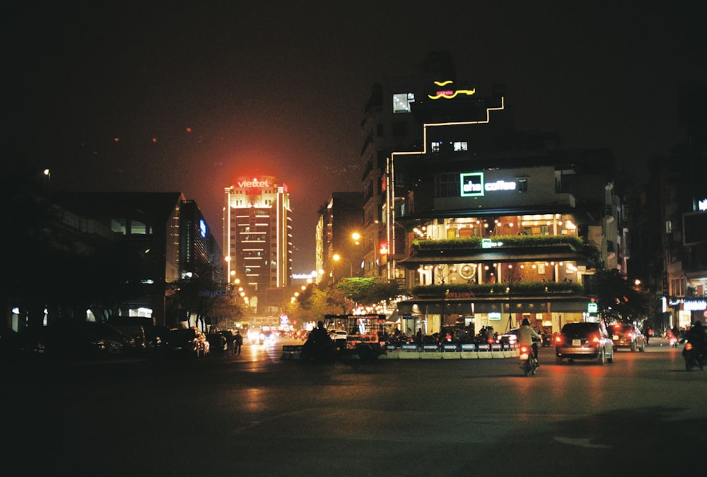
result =
M704 474L707 371L653 339L615 363L237 357L1 363L20 476Z

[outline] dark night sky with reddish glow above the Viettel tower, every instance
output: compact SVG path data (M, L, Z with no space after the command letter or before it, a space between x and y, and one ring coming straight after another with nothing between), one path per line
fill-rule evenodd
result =
M219 242L224 187L275 175L308 273L317 209L360 190L370 87L431 50L481 93L505 85L518 129L611 148L641 182L686 139L678 88L707 77L707 16L639 3L11 2L4 160L49 167L57 190L183 192Z

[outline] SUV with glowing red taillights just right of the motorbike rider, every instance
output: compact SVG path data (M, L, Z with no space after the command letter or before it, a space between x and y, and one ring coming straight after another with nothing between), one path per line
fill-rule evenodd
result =
M555 360L597 360L614 363L614 343L602 323L568 323L555 336Z

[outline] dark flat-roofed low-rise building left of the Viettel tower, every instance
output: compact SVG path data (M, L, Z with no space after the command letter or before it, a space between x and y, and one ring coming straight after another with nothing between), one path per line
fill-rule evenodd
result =
M221 256L201 211L180 192L57 192L52 200L115 233L115 242L139 263L132 296L120 304L119 316L144 317L152 324L180 326L185 310L166 307L170 286L208 273L218 282ZM105 305L110 306L110 304Z

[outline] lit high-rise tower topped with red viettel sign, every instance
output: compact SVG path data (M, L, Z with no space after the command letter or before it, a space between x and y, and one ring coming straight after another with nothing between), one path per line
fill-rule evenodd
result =
M277 314L292 276L292 217L286 184L238 177L225 189L223 249L231 284L245 289L258 314Z

